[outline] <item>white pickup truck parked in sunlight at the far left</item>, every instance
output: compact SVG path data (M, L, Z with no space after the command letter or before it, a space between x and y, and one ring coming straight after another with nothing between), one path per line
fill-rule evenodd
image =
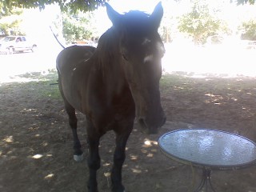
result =
M36 48L36 43L27 40L25 36L6 36L0 40L0 53L13 54L25 50L34 52Z

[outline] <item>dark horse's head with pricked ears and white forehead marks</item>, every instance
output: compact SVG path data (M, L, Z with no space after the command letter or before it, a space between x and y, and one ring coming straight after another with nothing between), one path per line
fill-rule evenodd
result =
M134 98L136 118L142 131L156 134L166 121L160 102L159 81L162 76L162 56L165 48L158 34L163 9L161 2L152 14L130 11L118 14L106 3L122 56L126 82Z

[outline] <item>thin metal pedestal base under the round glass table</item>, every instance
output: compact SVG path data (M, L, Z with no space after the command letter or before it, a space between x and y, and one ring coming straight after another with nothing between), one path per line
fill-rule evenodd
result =
M203 170L202 170L202 181L200 182L198 188L196 190L194 190L194 192L199 192L199 191L216 192L216 190L214 190L214 187L210 182L210 172L211 172L210 169L203 168Z

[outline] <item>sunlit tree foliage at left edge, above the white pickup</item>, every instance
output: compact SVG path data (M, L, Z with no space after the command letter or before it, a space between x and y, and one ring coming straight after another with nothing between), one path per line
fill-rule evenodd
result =
M0 2L0 34L2 35L18 35L22 34L19 28L21 19L19 15L22 10L15 7L6 7L3 2Z

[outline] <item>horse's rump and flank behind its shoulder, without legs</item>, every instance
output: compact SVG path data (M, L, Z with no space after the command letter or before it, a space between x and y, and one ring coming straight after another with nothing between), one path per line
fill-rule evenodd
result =
M81 112L81 89L86 89L81 84L85 82L83 78L90 74L90 62L87 60L94 54L95 49L93 46L70 46L58 54L56 61L62 97Z

